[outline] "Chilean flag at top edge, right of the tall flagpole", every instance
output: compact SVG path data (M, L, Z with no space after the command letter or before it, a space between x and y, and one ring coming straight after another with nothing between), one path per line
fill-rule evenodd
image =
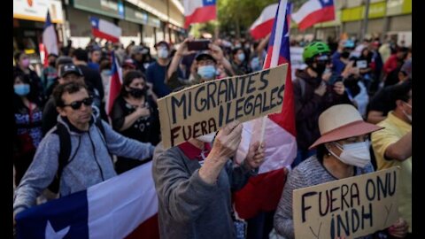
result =
M297 22L300 30L312 27L316 23L334 20L334 0L309 0L298 12L292 14L292 19Z

